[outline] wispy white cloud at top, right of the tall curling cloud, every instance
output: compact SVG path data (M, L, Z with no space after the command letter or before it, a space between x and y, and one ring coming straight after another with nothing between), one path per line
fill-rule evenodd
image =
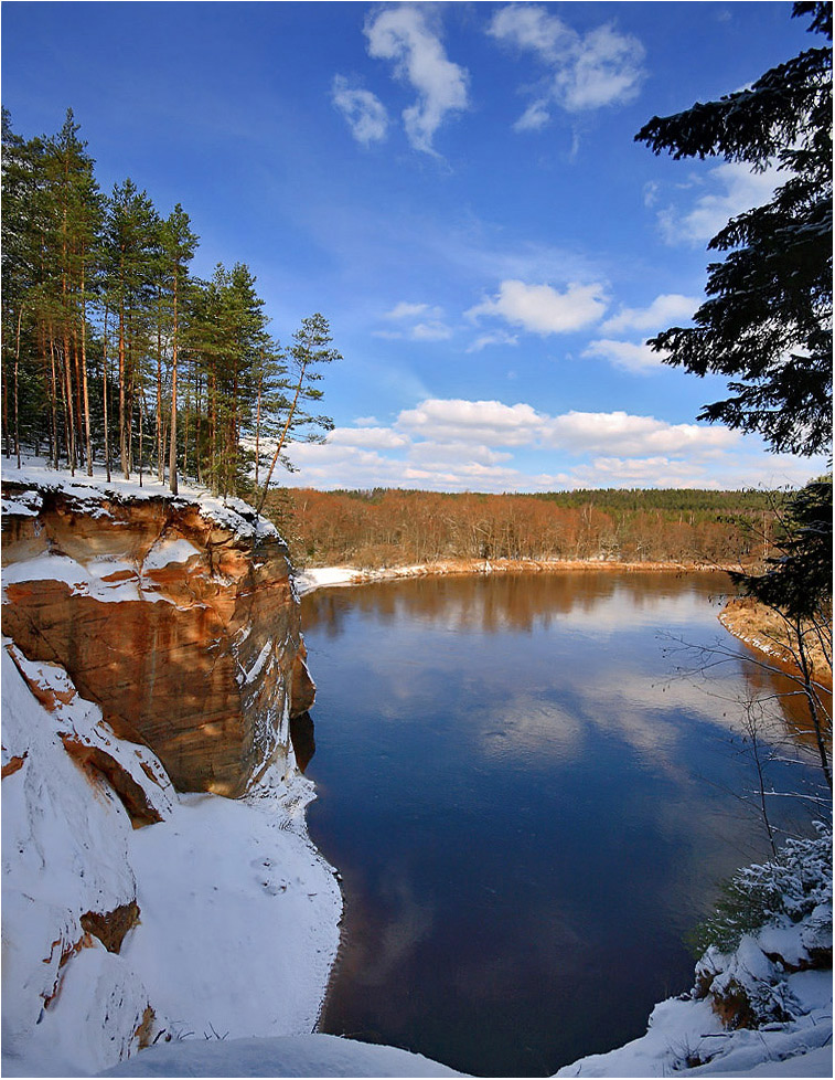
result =
M518 131L544 127L549 103L568 113L627 104L644 78L643 45L611 23L579 34L539 4L512 3L495 12L488 33L533 52L548 72L544 93L514 125Z

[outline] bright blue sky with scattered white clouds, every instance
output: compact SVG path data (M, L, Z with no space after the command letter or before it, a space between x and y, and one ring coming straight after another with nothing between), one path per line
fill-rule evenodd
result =
M291 483L742 487L822 460L697 424L725 391L643 346L686 324L709 237L774 174L655 158L653 115L806 47L783 2L2 7L15 130L71 106L131 177L245 262L272 332L321 311L336 430ZM287 479L287 478L286 478Z

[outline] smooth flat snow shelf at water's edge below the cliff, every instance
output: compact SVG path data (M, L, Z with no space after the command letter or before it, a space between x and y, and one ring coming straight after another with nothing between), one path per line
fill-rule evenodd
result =
M274 781L275 782L275 781ZM180 795L129 860L141 924L122 955L174 1035L309 1033L339 945L334 870L308 839L312 784Z

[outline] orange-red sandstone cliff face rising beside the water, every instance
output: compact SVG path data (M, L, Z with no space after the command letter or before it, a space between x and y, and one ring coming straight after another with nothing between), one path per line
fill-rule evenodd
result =
M181 791L236 796L287 760L314 687L276 536L178 499L44 490L26 513L20 487L4 494L3 633L26 657L61 664Z

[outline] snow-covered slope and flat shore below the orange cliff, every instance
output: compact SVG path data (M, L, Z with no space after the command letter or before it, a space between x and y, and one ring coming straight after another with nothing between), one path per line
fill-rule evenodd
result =
M72 693L62 669L18 661L46 692ZM113 1066L136 1051L148 1004L151 1037L310 1033L342 910L333 868L307 836L310 782L268 776L237 801L178 796L157 759L116 739L97 706L77 695L53 711L41 705L7 647L2 714L3 1074ZM106 745L164 819L132 828L62 734ZM133 898L139 924L118 953L85 934L85 912Z

